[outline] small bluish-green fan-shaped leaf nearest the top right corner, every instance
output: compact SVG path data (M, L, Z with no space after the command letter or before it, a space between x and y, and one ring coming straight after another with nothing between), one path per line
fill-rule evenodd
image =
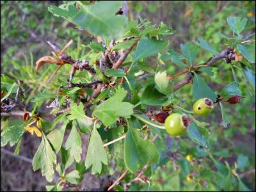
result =
M228 26L234 31L237 35L239 35L246 25L247 19L244 18L241 20L241 17L228 17L227 18Z

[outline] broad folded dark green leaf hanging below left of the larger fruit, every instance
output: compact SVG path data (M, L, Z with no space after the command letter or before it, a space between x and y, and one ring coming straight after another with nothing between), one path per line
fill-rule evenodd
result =
M143 141L138 134L138 129L134 129L130 124L124 141L124 163L132 173L136 173L138 164L143 166L159 161L156 146L148 140Z

